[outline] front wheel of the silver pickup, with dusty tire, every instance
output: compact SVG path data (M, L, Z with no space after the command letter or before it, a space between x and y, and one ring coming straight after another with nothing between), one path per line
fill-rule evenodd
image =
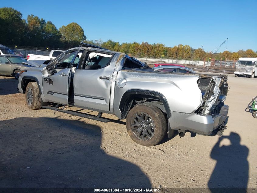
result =
M25 100L29 109L36 110L41 108L41 98L36 82L29 82L26 87Z

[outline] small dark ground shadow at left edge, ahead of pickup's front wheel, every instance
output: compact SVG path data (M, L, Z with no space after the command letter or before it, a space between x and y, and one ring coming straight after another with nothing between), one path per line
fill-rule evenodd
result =
M15 78L0 78L0 95L16 94L17 86L18 80Z

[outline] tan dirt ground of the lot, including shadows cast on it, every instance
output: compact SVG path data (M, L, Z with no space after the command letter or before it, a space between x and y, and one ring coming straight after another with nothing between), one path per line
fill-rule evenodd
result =
M137 145L113 115L30 110L17 84L0 76L0 187L257 187L257 119L245 112L257 78L229 75L223 137L187 132L154 147Z

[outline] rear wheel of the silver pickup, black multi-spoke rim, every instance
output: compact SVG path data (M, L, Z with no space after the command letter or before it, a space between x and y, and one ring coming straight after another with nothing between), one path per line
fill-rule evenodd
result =
M126 127L133 141L144 146L154 146L163 140L167 122L164 114L156 106L141 104L130 109Z

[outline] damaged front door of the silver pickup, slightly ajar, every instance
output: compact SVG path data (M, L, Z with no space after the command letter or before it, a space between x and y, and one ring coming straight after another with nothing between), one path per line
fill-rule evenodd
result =
M62 59L56 63L47 66L47 70L52 70L54 74L48 76L43 72L43 93L46 99L60 103L68 104L68 87L71 64L77 56L78 50L67 52Z

